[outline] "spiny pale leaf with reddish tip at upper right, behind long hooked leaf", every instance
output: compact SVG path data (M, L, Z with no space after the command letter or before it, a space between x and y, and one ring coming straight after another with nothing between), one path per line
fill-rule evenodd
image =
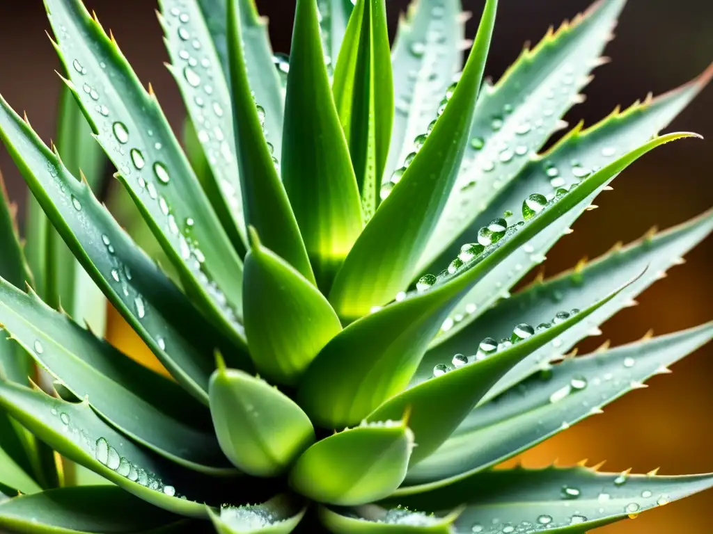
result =
M506 211L522 212L523 199L533 193L546 194L553 184L570 187L570 184L612 162L617 155L632 150L662 130L699 93L713 75L713 67L686 85L656 99L647 98L625 112L618 110L596 125L581 130L578 125L552 150L534 157L525 165L517 179L513 179L493 199L491 205L476 217L471 229L463 234L465 241L476 241L478 224L481 226ZM572 162L578 165L572 166ZM570 170L571 169L571 170ZM576 173L576 174L575 174ZM550 174L552 176L550 176ZM503 266L494 271L482 283L473 288L446 320L448 330L436 338L436 343L456 335L487 310L498 298L508 295L508 290L527 273L531 267L544 261L545 254L568 231L568 227L580 216L601 192L600 188L588 199L564 216L557 224L544 231L518 253L508 258ZM550 193L551 195L551 193ZM519 216L515 216L519 219ZM448 249L453 255L458 246ZM447 259L443 261L448 261Z

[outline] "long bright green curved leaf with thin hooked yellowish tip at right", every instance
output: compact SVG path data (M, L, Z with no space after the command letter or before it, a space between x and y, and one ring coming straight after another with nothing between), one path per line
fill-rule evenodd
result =
M300 406L322 426L339 428L361 421L406 387L443 319L473 284L635 159L691 135L669 134L647 142L555 197L527 223L511 226L499 241L430 290L401 295L404 298L396 303L349 325L327 343L305 373L297 391Z

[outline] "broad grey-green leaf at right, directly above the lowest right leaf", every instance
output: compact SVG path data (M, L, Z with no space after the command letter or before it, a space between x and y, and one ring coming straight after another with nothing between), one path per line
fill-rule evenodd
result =
M446 485L529 449L642 387L652 375L713 337L713 324L565 360L474 409L434 454L412 469L411 485ZM418 436L418 434L416 434ZM448 478L446 481L444 479ZM437 482L436 482L437 481ZM429 486L424 486L429 487Z

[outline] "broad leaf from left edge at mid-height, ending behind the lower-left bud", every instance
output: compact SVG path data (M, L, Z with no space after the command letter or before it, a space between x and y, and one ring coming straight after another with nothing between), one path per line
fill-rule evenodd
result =
M213 474L234 471L183 389L0 278L0 323L21 347L113 426L158 454Z

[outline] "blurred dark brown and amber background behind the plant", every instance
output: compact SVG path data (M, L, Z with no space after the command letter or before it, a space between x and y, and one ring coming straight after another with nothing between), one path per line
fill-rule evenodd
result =
M423 0L422 0L423 1ZM293 0L258 0L270 16L276 51L289 51ZM163 67L167 59L152 0L86 0L105 27L112 28L125 55L144 83L149 81L173 125L184 115L178 91ZM389 0L391 21L406 1ZM478 14L482 0L463 0ZM487 74L498 78L518 55L524 41L537 41L550 23L558 24L585 9L588 0L502 0ZM473 36L477 17L469 23ZM41 0L0 0L0 93L17 110L26 110L39 134L48 140L58 93L56 56L44 31L48 23ZM630 0L617 39L607 48L614 62L597 70L586 90L589 99L570 114L588 124L617 104L628 105L649 90L661 93L684 83L713 61L713 2L709 0ZM615 241L630 241L652 224L664 228L684 221L713 205L713 88L707 90L674 123L710 141L667 145L637 162L603 195L600 209L586 213L550 253L547 271L572 266L581 256L597 256ZM0 153L11 196L24 198L25 189L4 150ZM605 337L615 343L635 340L654 328L668 333L713 318L709 239L688 256L685 266L648 290L640 306L622 311L607 323ZM591 349L605 339L589 340ZM655 377L649 389L633 392L606 409L526 455L528 465L559 457L572 464L585 457L593 463L607 459L607 468L637 472L661 466L661 473L713 471L709 455L713 436L713 345L674 366L674 374ZM604 533L709 533L713 491L602 529Z

